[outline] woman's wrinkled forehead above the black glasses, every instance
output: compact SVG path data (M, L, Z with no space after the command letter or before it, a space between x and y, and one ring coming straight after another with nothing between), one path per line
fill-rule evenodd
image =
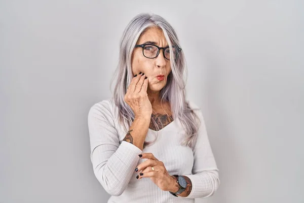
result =
M156 45L168 45L164 32L159 27L149 27L141 33L138 44L144 44L146 42L155 42Z

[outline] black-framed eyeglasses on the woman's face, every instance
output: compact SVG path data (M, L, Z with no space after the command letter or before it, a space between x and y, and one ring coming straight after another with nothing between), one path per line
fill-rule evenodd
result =
M163 49L163 54L164 57L167 60L170 60L170 48L168 47L159 47L153 44L141 44L141 45L135 45L135 47L141 47L142 48L142 54L146 57L146 58L156 58L159 53L160 50ZM178 53L181 51L181 48L177 47L177 46L173 46L172 47L172 51L173 51L173 56L177 57Z

